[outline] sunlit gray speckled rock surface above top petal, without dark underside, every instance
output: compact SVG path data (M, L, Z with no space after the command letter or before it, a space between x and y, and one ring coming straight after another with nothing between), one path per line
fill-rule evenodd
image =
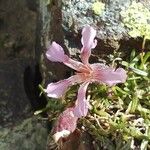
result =
M126 30L121 25L120 11L130 5L131 0L106 1L104 11L95 14L92 5L95 0L73 0L63 2L63 24L68 30L71 26L81 29L85 24L90 24L98 29L97 37L102 40L121 39ZM74 28L75 30L75 28Z

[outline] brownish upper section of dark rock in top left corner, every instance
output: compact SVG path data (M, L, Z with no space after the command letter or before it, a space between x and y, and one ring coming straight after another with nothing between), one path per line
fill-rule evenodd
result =
M36 13L26 1L0 1L0 60L34 58Z

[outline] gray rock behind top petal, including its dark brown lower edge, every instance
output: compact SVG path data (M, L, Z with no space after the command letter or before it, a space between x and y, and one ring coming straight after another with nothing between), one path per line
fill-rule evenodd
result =
M130 39L128 29L123 26L120 12L126 10L134 0L107 0L104 1L104 10L95 14L93 8L96 0L63 0L62 1L62 25L64 35L69 46L79 43L78 31L86 24L92 25L97 30L99 40L95 54L108 54L113 50L128 51L141 48L141 40ZM149 3L141 1L149 8ZM74 36L75 35L75 36ZM77 37L77 38L76 38ZM75 43L75 39L78 41ZM73 45L73 43L75 43ZM78 45L80 47L80 45ZM125 48L126 47L126 48ZM73 53L73 52L72 52Z

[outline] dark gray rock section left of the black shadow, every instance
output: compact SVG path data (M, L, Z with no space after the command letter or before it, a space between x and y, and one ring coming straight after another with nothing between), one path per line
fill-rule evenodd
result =
M29 59L0 62L1 126L22 120L31 111L31 103L24 89L24 72L29 62L30 65L33 63Z

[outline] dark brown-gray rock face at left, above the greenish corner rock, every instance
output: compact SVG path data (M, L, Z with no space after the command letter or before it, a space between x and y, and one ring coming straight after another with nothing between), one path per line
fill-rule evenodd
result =
M36 14L25 1L2 0L0 20L0 122L7 126L31 110L25 83L33 77L30 72L27 75L28 68L35 72Z

